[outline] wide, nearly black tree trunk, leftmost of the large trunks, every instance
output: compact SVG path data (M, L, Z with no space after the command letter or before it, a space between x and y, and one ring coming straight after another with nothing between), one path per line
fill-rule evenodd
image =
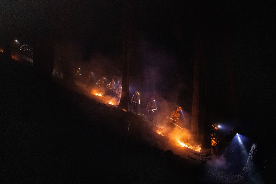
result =
M45 6L47 5L47 8ZM55 4L41 1L35 4L34 39L33 42L33 69L34 77L51 80L54 67L54 20L57 19L52 12Z

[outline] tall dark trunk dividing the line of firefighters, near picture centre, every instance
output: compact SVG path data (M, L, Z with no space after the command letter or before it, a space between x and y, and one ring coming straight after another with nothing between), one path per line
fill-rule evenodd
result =
M129 70L130 62L132 61L133 52L133 28L132 28L132 2L125 1L124 15L123 15L123 76L122 76L122 96L121 101L118 105L121 109L126 109L128 107L129 100Z

